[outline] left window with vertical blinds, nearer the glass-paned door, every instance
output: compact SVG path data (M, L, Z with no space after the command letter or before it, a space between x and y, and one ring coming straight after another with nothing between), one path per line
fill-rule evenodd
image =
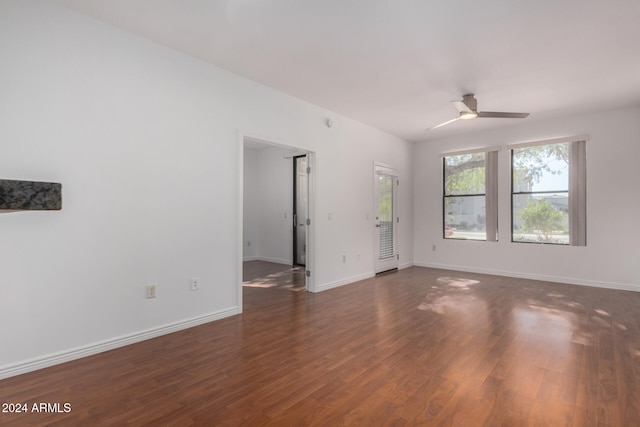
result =
M495 149L443 155L443 237L497 241Z

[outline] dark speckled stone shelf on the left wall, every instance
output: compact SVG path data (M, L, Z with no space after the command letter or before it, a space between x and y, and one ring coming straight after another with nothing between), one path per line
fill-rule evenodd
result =
M0 211L62 209L62 184L0 179Z

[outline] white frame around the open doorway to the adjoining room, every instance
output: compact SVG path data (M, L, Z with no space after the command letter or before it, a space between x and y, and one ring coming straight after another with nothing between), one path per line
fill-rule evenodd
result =
M305 275L305 288L308 292L317 292L315 276L317 274L316 269L316 153L314 150L309 149L302 145L297 145L289 142L278 141L274 138L265 138L261 136L251 135L246 132L238 131L237 138L237 156L238 156L238 188L237 188L237 230L236 230L236 283L237 283L237 303L238 312L242 313L242 262L243 262L243 248L244 248L244 143L245 140L257 142L260 144L271 145L274 147L280 147L285 150L296 151L307 155L307 167L311 168L307 185L309 191L307 194L309 209L307 212L308 218L311 220L310 225L306 226L307 231L307 265L305 270L310 272Z

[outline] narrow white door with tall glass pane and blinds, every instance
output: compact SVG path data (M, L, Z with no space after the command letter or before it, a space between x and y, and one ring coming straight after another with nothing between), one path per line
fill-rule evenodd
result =
M374 167L375 272L398 268L398 172L376 164Z

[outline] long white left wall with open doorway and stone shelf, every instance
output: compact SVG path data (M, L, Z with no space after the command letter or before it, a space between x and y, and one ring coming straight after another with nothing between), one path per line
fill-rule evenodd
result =
M0 215L0 377L240 311L239 133L317 153L319 290L373 272L374 161L412 262L410 143L47 2L0 2L0 54L2 178L63 191Z

